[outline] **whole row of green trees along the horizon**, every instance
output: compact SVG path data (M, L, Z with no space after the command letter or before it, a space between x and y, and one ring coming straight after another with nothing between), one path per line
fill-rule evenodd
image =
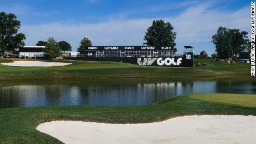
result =
M13 52L15 48L24 46L25 34L18 33L21 23L17 16L12 13L0 13L0 51ZM215 44L216 57L236 57L239 52L249 51L249 39L247 32L239 29L228 29L219 27L217 33L212 36L212 42ZM144 44L147 46L168 46L176 48L176 32L170 22L164 22L163 19L154 20L152 25L147 28L144 36ZM51 57L59 56L61 51L71 51L71 45L66 41L57 42L53 37L47 41L38 41L37 46L46 46L46 53ZM85 48L92 46L90 39L84 37L77 48L81 54L85 53Z

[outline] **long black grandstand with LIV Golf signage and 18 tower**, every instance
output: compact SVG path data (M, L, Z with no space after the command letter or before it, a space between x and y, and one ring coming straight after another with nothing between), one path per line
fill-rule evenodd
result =
M143 66L193 67L193 47L185 46L183 54L174 54L171 47L157 46L92 46L84 54L66 59L113 61Z

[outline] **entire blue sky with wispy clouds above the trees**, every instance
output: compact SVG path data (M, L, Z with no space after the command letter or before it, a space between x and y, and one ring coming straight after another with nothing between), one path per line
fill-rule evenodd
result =
M176 47L194 46L195 53L214 53L211 36L219 26L250 30L250 1L104 1L0 0L0 11L21 21L26 44L55 37L76 50L88 37L95 46L141 45L153 19L170 22Z

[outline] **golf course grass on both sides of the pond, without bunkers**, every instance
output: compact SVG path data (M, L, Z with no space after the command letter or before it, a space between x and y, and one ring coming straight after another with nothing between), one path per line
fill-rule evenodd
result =
M14 59L17 60L17 59ZM13 59L0 59L0 63ZM52 61L48 61L52 62ZM249 76L249 64L220 63L214 59L195 59L205 67L178 68L137 66L135 64L92 61L72 62L60 67L15 67L0 64L0 80L92 79L92 78L157 78ZM0 84L1 84L0 81ZM1 85L0 85L1 87ZM0 100L1 101L1 100ZM227 93L191 93L141 106L47 106L0 109L0 143L62 143L57 138L36 130L50 121L85 121L102 123L150 123L193 115L256 116L255 95Z

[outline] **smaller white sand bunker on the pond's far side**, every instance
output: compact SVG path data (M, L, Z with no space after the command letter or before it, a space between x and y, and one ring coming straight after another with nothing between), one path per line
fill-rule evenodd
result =
M17 66L17 67L56 67L56 66L66 66L72 63L65 62L41 62L41 61L14 61L13 63L1 63L7 66Z

